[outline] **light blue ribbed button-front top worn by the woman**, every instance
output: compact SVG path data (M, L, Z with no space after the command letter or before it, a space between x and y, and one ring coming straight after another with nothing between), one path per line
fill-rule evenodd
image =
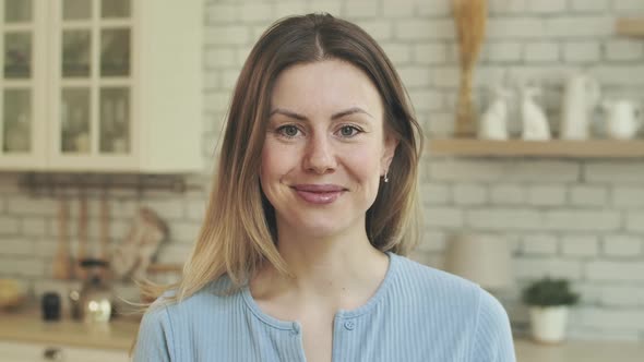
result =
M333 361L515 361L508 314L477 285L393 253L369 302L338 311ZM134 361L306 361L301 326L263 313L227 278L151 309Z

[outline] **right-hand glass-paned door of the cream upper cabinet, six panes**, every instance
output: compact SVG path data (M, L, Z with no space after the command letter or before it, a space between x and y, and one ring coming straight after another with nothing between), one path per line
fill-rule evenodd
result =
M132 156L132 2L57 1L62 158Z

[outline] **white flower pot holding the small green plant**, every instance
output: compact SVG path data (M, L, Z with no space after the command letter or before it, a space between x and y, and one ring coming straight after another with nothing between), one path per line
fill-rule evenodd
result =
M568 306L530 306L533 338L539 342L557 343L565 337Z

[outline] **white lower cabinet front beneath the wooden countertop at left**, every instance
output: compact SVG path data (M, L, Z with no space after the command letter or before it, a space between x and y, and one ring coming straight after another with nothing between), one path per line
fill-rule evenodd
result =
M56 346L0 341L0 362L127 362L128 352Z

